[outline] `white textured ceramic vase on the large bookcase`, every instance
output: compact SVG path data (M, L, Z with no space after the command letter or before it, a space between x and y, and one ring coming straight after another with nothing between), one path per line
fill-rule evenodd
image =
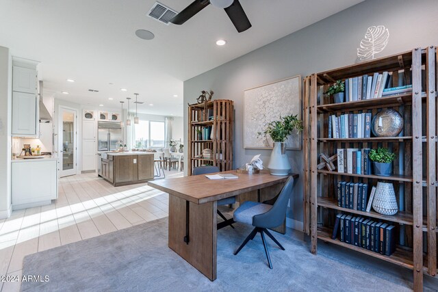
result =
M398 212L396 192L392 183L377 182L372 209L383 215L394 215Z

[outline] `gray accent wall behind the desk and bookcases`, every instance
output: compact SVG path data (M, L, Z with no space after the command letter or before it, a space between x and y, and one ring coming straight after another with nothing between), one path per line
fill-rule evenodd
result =
M317 9L317 8L315 8ZM249 16L250 18L250 16ZM184 81L184 105L196 103L201 90L213 90L214 98L235 102L234 167L261 153L268 165L271 150L244 149L243 91L296 75L302 78L359 62L357 48L368 27L385 25L389 43L376 58L410 51L415 47L438 45L437 0L368 0L334 14L289 36L267 44L227 64L218 66ZM245 33L242 33L242 38ZM196 44L194 44L196 45ZM214 45L214 44L211 44ZM232 50L227 44L224 50ZM188 133L187 110L184 111L184 133ZM187 135L185 135L187 145ZM187 150L185 150L187 156ZM288 150L292 171L300 178L294 188L288 209L288 226L302 226L303 152Z

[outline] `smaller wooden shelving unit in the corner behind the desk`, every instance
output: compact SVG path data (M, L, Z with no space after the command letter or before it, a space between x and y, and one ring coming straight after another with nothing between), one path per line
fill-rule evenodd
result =
M234 105L229 100L196 103L188 107L188 175L193 168L216 165L220 171L233 169ZM196 130L210 128L211 135L199 139ZM211 158L204 158L203 150L212 151Z

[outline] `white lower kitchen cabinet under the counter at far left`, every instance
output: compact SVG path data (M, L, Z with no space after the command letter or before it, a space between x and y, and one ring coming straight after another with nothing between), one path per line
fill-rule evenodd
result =
M12 209L51 204L57 199L56 159L12 161Z

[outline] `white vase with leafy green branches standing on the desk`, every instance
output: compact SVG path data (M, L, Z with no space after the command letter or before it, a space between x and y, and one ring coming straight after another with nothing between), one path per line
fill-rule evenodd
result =
M270 122L266 130L259 135L269 135L274 141L274 149L272 150L268 168L271 174L287 175L291 169L289 159L286 155L285 141L292 131L302 131L302 120L297 118L298 115L289 115L280 120Z

